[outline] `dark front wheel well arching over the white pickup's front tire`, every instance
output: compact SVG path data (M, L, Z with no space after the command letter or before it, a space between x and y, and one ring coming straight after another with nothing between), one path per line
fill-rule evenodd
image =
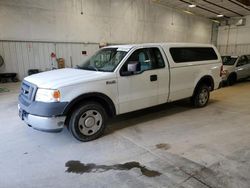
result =
M71 113L79 105L83 104L84 102L89 102L89 101L97 102L100 105L102 105L102 107L106 110L107 115L109 117L114 117L116 115L115 105L108 96L101 94L101 93L88 93L88 94L84 94L75 98L64 109L63 114L67 116L66 121L65 121L66 125L69 123Z

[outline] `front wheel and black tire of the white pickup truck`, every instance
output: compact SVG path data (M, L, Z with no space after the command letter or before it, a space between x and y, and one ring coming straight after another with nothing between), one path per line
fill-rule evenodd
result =
M88 142L104 133L106 120L105 109L99 103L88 102L73 111L68 129L77 140Z

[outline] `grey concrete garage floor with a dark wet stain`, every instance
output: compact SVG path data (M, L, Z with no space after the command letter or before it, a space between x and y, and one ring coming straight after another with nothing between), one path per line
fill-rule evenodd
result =
M43 133L17 115L18 84L1 84L0 187L250 187L250 81L120 116L98 140ZM126 163L126 164L124 164ZM146 169L147 168L147 169Z

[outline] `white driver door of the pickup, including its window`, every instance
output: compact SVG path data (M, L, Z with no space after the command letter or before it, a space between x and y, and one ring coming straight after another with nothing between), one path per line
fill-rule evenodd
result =
M119 112L126 113L158 104L158 65L153 57L153 48L135 50L122 66L118 75ZM154 48L156 49L156 48ZM159 50L159 49L158 49ZM128 63L137 62L140 70L124 75ZM164 65L164 61L163 65Z

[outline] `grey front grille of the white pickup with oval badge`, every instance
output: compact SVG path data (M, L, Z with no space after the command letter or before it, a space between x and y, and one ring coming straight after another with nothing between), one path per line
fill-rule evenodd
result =
M29 82L23 81L19 99L25 106L29 106L35 98L37 87Z

